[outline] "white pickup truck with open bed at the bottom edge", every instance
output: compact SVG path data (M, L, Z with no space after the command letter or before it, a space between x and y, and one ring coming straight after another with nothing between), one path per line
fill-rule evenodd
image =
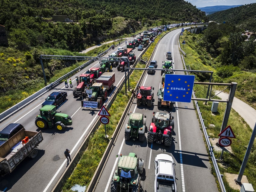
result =
M177 192L173 158L167 154L158 154L155 157L154 192Z

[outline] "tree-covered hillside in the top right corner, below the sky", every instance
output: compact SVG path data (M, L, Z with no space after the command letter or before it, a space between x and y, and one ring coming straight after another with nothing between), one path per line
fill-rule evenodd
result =
M210 21L230 23L243 30L256 31L256 3L219 11L207 15Z

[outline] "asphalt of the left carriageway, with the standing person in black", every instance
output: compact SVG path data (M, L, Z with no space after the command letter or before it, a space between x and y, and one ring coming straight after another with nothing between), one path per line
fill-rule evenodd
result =
M126 47L125 43L121 46ZM141 54L141 51L135 50L134 52L137 57ZM103 57L110 54L111 52ZM75 76L79 76L91 67L100 67L100 64L96 61L70 77L73 88L76 87ZM117 68L113 68L113 72L115 72L116 79L114 83L115 90L124 78L124 72L118 72ZM73 124L64 131L58 131L55 128L42 130L43 141L38 146L37 157L34 159L26 158L11 174L0 178L0 191L34 192L35 189L37 191L51 191L53 189L66 169L67 162L64 151L68 148L72 158L72 155L78 151L95 121L99 118L97 115L99 109L81 107L82 98L74 98L73 88L70 88L70 86L65 88L63 82L0 124L0 127L4 128L9 123L20 123L26 130L39 131L35 126L35 117L40 114L41 104L47 95L59 90L66 91L68 94L67 101L58 108L58 111L72 117ZM113 95L114 90L108 91L108 99ZM108 102L108 99L105 102Z

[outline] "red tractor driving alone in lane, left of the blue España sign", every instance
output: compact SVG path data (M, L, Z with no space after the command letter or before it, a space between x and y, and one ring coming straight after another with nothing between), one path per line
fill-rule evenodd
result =
M147 105L148 107L152 106L152 100L154 98L154 93L152 93L152 90L154 90L152 87L139 87L136 95L137 106L140 106L141 104Z

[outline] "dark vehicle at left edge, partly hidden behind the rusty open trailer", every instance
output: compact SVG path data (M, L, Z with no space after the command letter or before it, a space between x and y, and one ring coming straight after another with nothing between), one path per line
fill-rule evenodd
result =
M10 123L7 125L2 131L0 131L0 146L18 133L22 128L24 127L19 123Z

